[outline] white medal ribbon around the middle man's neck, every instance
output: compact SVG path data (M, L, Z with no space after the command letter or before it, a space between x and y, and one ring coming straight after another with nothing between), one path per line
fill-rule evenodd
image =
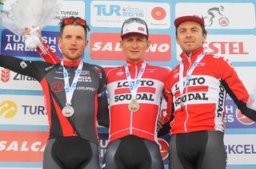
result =
M129 71L129 68L128 68L127 64L125 65L125 68L126 68L126 78L128 80L129 87L130 87L131 98L132 99L136 99L136 95L137 95L137 91L138 91L138 86L140 85L139 82L141 81L142 74L145 71L146 63L144 62L142 64L142 67L141 67L141 69L139 70L139 73L138 73L138 77L134 79L134 83L131 80L130 71Z

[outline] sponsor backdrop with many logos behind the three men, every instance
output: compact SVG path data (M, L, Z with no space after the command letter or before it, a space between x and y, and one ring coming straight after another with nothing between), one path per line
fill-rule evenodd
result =
M57 41L59 19L70 15L85 18L91 31L83 61L102 66L124 64L125 56L119 43L122 22L138 17L144 19L150 29L151 45L146 61L173 68L178 65L181 53L175 42L174 18L188 10L197 11L205 18L208 30L206 52L232 61L250 95L255 95L255 0L75 0L61 3L61 10L54 11L54 17L42 31L43 40L61 57ZM42 60L36 51L26 49L23 37L1 25L0 38L2 54ZM0 168L42 168L48 131L42 88L31 77L3 68L0 72ZM163 104L163 115L165 108ZM256 168L256 124L242 116L229 97L225 121L228 168ZM108 131L101 127L98 130L102 161ZM166 167L169 140L170 136L158 140Z

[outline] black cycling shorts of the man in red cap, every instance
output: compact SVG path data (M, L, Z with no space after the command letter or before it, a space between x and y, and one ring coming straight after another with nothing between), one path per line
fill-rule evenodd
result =
M225 169L223 133L202 131L171 136L170 169Z

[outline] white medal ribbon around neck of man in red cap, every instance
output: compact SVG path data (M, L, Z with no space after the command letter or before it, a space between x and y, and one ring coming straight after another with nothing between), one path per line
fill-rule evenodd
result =
M186 77L183 77L183 71L184 71L184 65L183 63L181 62L181 64L179 65L179 92L181 93L181 96L183 94L183 90L184 88L186 87L188 81L190 80L190 77L195 69L195 67L197 67L197 65L200 63L200 61L202 60L202 58L205 56L205 53L201 53L197 60L194 61L194 64L191 66L189 72L186 74ZM185 81L183 82L185 78ZM182 99L182 98L181 98Z

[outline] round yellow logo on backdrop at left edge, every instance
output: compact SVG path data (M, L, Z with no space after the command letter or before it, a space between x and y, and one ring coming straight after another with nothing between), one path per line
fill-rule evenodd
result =
M17 105L13 101L6 100L0 103L0 116L12 118L18 112Z

